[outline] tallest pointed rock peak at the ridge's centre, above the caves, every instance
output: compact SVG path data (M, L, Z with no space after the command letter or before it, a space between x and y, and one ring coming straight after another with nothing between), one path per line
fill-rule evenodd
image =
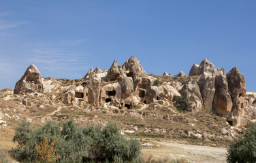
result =
M144 71L142 65L140 65L140 61L131 56L129 60L123 64L122 69L127 77L132 77L133 81L138 79L138 77L147 77L146 71Z

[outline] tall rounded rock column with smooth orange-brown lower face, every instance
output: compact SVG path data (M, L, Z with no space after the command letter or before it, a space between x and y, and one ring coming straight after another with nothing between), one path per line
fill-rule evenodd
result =
M212 109L220 116L230 115L232 107L227 78L222 74L215 78L215 94Z

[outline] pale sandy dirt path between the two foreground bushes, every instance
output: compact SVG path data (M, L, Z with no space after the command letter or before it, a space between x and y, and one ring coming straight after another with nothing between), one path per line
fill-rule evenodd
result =
M152 153L155 158L171 158L184 157L189 162L225 162L227 149L222 147L207 147L200 145L186 145L179 143L157 142L155 145L160 147L144 148L142 153Z

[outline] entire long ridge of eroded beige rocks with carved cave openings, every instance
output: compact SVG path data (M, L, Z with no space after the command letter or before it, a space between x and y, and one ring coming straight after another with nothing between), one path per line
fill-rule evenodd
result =
M205 59L193 65L188 77L180 74L147 75L140 61L132 56L121 66L114 60L108 71L96 67L81 79L57 86L60 84L54 85L52 79L42 79L39 70L31 65L16 83L14 94L58 92L58 99L65 105L78 106L83 102L121 109L170 103L174 96L182 95L191 102L193 111L212 110L232 126L245 126L253 120L255 98L246 96L245 79L238 68L225 76L224 69L216 69Z

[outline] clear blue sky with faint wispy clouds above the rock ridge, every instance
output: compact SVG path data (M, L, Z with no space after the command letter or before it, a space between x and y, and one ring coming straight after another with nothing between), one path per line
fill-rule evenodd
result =
M43 77L78 79L130 56L150 74L188 75L204 58L238 67L256 92L256 1L0 0L0 89L31 63Z

